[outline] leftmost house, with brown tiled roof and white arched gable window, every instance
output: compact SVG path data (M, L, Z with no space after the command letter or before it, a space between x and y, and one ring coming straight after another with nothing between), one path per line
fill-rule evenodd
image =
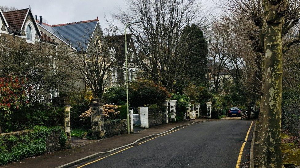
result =
M6 46L8 46L8 43L26 44L30 48L43 50L49 55L57 53L57 43L39 29L30 8L9 12L2 12L0 9L0 18L0 39L7 42ZM41 90L41 85L32 85L36 90ZM45 90L48 91L48 88ZM49 93L45 95L40 94L40 96L43 99L46 97L58 97L59 90L52 89Z

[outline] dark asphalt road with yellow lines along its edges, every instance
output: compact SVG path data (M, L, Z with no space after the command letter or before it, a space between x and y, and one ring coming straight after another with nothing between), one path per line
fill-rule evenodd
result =
M251 122L214 120L182 127L74 167L235 167ZM252 130L241 163L248 161Z

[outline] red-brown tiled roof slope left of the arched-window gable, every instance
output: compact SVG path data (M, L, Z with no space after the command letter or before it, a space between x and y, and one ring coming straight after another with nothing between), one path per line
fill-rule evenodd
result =
M14 10L10 12L3 12L3 15L10 26L10 28L21 31L22 24L25 20L29 8Z

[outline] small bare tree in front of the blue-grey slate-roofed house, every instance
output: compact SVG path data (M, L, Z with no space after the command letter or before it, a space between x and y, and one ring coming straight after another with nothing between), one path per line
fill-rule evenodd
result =
M111 54L109 43L105 36L115 35L116 26L109 26L102 32L97 25L95 30L86 30L86 40L76 41L77 49L64 46L65 66L77 73L79 82L83 82L87 89L93 92L95 97L101 98L106 88L111 85L111 68L117 56ZM70 45L72 45L70 43Z

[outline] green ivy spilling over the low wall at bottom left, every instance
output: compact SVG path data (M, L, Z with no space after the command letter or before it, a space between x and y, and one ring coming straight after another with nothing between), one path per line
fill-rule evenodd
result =
M35 126L33 131L24 136L0 136L0 165L15 162L20 159L41 155L46 152L46 138L52 132L60 134L61 147L65 147L67 136L59 126Z

